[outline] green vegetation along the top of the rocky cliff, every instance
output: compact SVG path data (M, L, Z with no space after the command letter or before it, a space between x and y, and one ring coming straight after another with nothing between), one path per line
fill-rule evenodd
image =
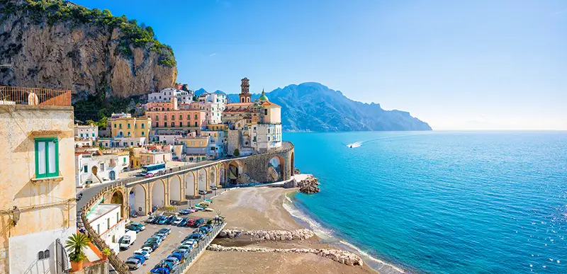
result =
M154 30L150 26L138 25L135 19L128 20L126 16L113 16L108 9L101 11L98 8L85 8L73 4L69 1L62 0L25 0L18 4L13 0L0 0L1 15L0 20L14 14L18 11L23 11L35 23L42 23L44 21L49 25L56 23L71 23L72 25L79 24L95 24L105 27L112 31L119 28L123 35L120 36L119 46L116 51L123 57L133 59L133 52L130 45L133 47L141 47L147 50L157 52L159 54L159 64L174 67L176 65L172 47L160 43L154 34Z

